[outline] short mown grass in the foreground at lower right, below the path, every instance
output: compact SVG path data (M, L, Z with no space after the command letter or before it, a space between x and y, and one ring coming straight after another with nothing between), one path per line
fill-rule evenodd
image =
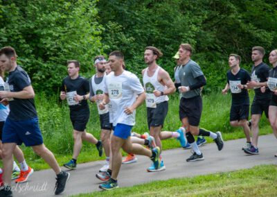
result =
M276 196L277 166L150 182L85 196Z

